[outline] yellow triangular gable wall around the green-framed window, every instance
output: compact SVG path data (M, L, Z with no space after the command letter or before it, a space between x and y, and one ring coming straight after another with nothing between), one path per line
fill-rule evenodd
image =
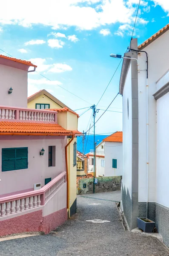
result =
M49 99L46 95L41 95L38 98L32 100L28 103L28 108L36 108L36 103L40 104L50 104L50 108L61 108L60 105L55 103L52 99Z

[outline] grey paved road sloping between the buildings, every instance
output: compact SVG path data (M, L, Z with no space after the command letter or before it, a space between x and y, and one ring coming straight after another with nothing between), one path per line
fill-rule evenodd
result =
M0 256L169 256L157 239L123 229L119 198L119 192L78 196L72 219L49 235L1 241Z

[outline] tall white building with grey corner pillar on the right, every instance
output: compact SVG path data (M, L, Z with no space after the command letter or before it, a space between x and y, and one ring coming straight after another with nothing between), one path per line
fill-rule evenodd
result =
M139 46L132 39L125 56L137 58L138 66L136 60L123 59L120 94L123 211L131 230L137 227L137 217L155 221L169 246L168 42L169 24Z

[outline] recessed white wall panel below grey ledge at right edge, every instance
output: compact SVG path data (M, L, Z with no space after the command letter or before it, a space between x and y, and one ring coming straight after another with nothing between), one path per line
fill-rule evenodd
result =
M169 207L169 93L157 100L157 203Z

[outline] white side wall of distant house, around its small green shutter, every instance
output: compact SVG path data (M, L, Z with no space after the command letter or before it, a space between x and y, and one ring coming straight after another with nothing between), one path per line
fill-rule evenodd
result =
M123 166L122 142L105 141L105 176L121 176ZM117 169L112 168L112 159L117 159Z

